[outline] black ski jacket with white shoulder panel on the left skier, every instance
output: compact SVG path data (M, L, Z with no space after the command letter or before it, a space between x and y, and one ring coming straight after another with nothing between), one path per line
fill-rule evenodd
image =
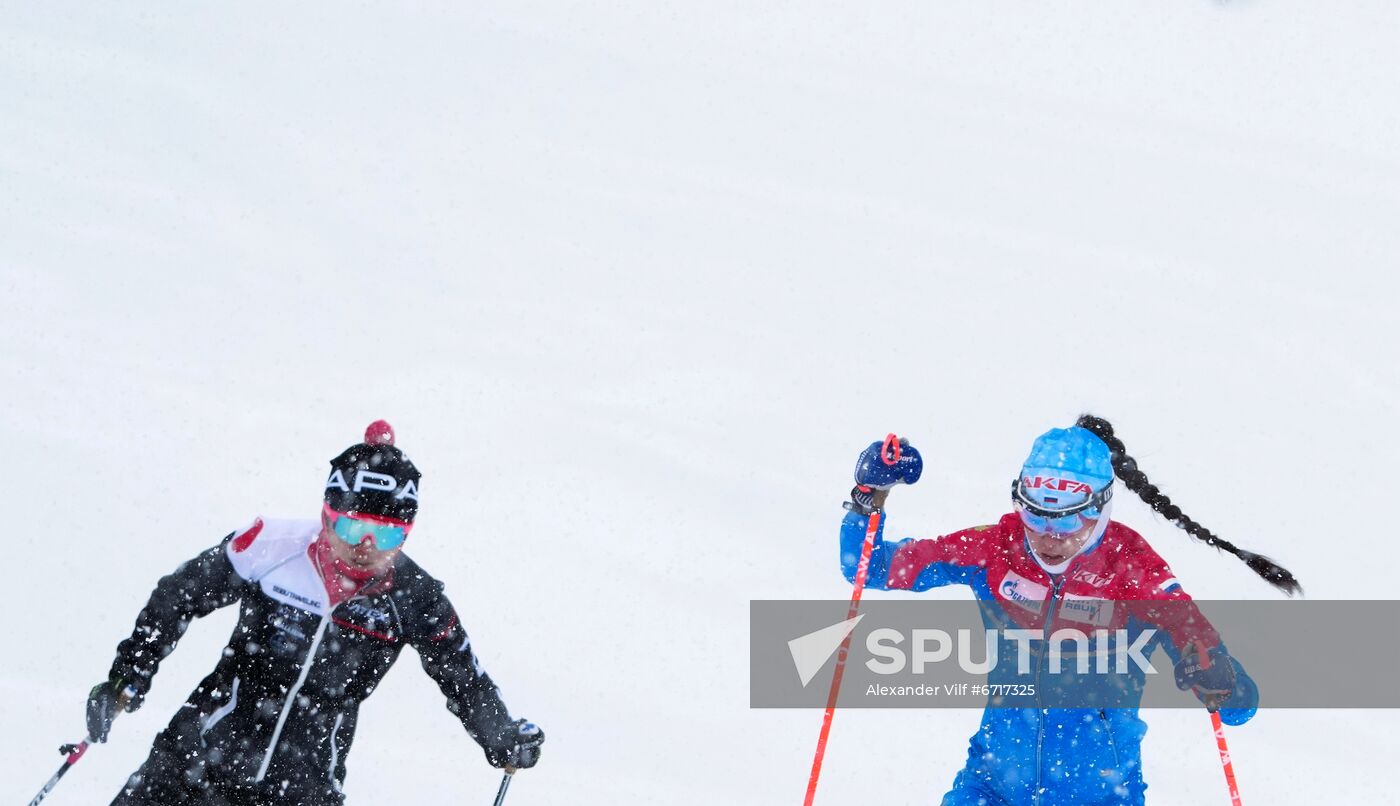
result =
M280 802L339 802L360 702L403 646L483 749L515 742L442 584L402 553L388 585L329 609L308 549L318 521L259 519L162 578L118 646L112 677L144 694L192 618L239 603L224 656L157 739L153 760ZM375 592L378 591L378 592ZM150 764L150 763L148 763Z

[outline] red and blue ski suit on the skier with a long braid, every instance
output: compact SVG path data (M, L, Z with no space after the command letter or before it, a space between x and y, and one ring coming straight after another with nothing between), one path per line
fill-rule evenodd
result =
M883 525L882 519L881 532ZM855 512L841 523L847 579L855 575L867 526L868 519ZM1113 521L1058 574L1049 574L1032 556L1015 514L932 540L886 543L876 536L868 588L927 591L951 584L969 585L977 599L1000 604L981 609L988 628L1033 630L1050 638L1044 644L1060 641L1056 632L1068 631L1071 637L1082 635L1084 644L1060 644L1072 646L1064 653L1063 677L1043 646L1036 651L1030 676L1018 677L1016 663L993 667L988 683L1035 681L1036 693L1023 700L988 701L972 737L967 765L944 803L1142 803L1147 785L1140 746L1147 725L1137 716L1137 705L1147 674L1130 665L1128 674L1120 674L1113 686L1095 687L1091 681L1085 687L1085 676L1074 679L1068 670L1077 666L1074 652L1113 655L1126 644L1151 656L1161 644L1175 663L1189 645L1200 642L1211 649L1221 644L1166 561L1141 535ZM998 655L1015 656L1018 649L1005 635L1001 632L1007 645ZM1236 690L1221 718L1239 725L1254 714L1259 690L1238 662L1231 663ZM1170 686L1170 676L1166 683ZM1106 698L1092 704L1095 693L1103 691Z

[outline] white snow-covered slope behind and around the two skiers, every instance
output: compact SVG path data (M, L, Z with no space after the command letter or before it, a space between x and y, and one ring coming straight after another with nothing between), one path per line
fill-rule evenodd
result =
M155 579L315 516L377 417L424 473L410 554L549 735L514 806L798 803L820 712L748 708L748 600L848 595L839 504L890 430L930 460L896 533L990 522L1092 410L1310 598L1400 596L1371 514L1397 29L1345 1L0 3L0 800L81 736ZM1197 598L1277 596L1116 515ZM50 803L115 795L232 616ZM977 716L840 712L818 802L937 803ZM1204 712L1148 721L1151 800L1225 803ZM1397 729L1264 711L1231 733L1243 795L1393 803ZM406 653L349 802L497 779Z

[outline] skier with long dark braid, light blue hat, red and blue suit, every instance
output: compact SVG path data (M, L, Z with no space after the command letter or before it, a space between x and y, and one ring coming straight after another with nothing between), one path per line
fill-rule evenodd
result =
M855 578L871 514L883 507L893 486L917 481L923 469L907 442L897 460L890 448L875 442L857 463L857 486L841 523L841 567L848 581ZM1137 469L1112 425L1092 416L1036 439L1012 486L1015 511L995 523L931 540L886 543L878 535L865 585L890 591L967 585L987 603L981 610L988 628L1032 627L1046 637L1079 631L1091 653L1123 652L1123 641L1133 646L1144 630L1156 628L1138 644L1141 655L1151 656L1161 644L1176 665L1177 687L1191 688L1225 723L1243 725L1254 715L1259 690L1166 563L1141 535L1109 518L1114 472L1193 537L1239 556L1285 592L1298 591L1287 570L1182 514ZM1099 639L1109 645L1098 645ZM1000 656L1015 656L1018 646L1007 644L998 646ZM1067 653L1061 669L1072 669L1072 658ZM1142 803L1147 784L1140 747L1147 725L1138 718L1138 704L1145 674L1130 666L1130 674L1093 691L1077 687L1068 674L1050 674L1047 652L1033 651L1032 659L1029 677L1016 676L1015 663L998 663L991 672L988 683L994 684L1039 681L1036 695L988 702L944 806ZM1085 707L1099 702L1103 707Z

